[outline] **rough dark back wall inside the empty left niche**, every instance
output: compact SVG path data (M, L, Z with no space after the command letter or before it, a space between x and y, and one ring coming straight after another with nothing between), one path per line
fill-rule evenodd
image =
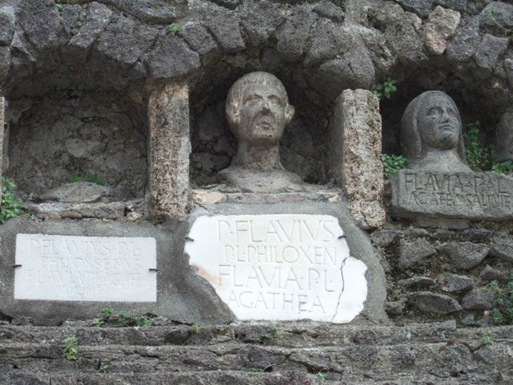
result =
M10 106L15 121L5 172L27 198L88 174L114 187L112 198L144 197L145 118L122 95L62 90Z

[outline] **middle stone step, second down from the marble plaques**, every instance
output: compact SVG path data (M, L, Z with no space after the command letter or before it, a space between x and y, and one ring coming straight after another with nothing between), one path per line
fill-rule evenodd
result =
M494 341L450 340L393 345L354 344L345 347L282 348L246 343L203 346L78 345L77 358L63 358L60 343L0 344L0 367L27 371L96 372L108 363L116 373L173 371L273 371L366 373L387 376L423 368L441 377L465 372L491 373L503 368L513 376L513 345Z

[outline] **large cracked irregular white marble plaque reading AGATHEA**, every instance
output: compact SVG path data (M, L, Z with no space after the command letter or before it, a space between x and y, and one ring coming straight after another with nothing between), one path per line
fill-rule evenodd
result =
M367 298L365 264L328 215L204 216L185 252L241 320L346 323Z

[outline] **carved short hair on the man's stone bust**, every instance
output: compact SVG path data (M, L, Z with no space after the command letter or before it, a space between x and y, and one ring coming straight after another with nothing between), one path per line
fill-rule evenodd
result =
M236 114L241 106L244 88L251 84L271 85L278 88L285 101L285 105L288 106L287 90L280 79L269 72L259 71L247 73L233 83L228 91L228 98L226 100L226 116L228 117L230 126L234 123L233 120L236 120L237 118Z

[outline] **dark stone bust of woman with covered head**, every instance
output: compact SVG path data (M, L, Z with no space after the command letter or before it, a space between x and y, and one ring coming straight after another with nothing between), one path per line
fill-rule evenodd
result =
M408 168L470 172L456 103L444 92L426 91L406 107L401 142Z

